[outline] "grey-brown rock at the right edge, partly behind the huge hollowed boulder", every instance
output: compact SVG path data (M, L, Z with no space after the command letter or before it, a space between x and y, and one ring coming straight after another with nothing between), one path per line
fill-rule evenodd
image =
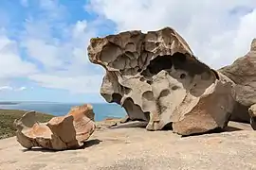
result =
M231 65L219 70L229 76L235 86L235 109L231 120L249 122L248 108L256 103L256 39L251 42L250 51Z

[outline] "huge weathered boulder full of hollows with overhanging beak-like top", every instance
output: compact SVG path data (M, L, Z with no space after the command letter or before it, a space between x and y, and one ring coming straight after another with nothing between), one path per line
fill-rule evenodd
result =
M173 28L92 39L88 56L106 70L105 100L148 122L148 130L172 125L189 135L228 124L234 83L196 59Z

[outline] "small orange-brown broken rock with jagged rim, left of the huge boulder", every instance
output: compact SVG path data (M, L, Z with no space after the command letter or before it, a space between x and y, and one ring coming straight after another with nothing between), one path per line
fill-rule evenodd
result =
M94 122L86 116L90 111L92 106L83 105L76 110L73 108L65 116L53 117L47 123L39 123L35 111L28 111L14 121L17 141L26 148L79 148L95 130Z

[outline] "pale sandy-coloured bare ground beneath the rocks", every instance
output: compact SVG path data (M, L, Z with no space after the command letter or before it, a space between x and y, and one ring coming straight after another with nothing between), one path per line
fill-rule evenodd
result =
M246 129L246 130L241 130ZM78 150L24 149L15 138L0 141L1 170L54 169L256 169L256 132L229 123L229 131L180 137L172 131L126 127L101 129Z

